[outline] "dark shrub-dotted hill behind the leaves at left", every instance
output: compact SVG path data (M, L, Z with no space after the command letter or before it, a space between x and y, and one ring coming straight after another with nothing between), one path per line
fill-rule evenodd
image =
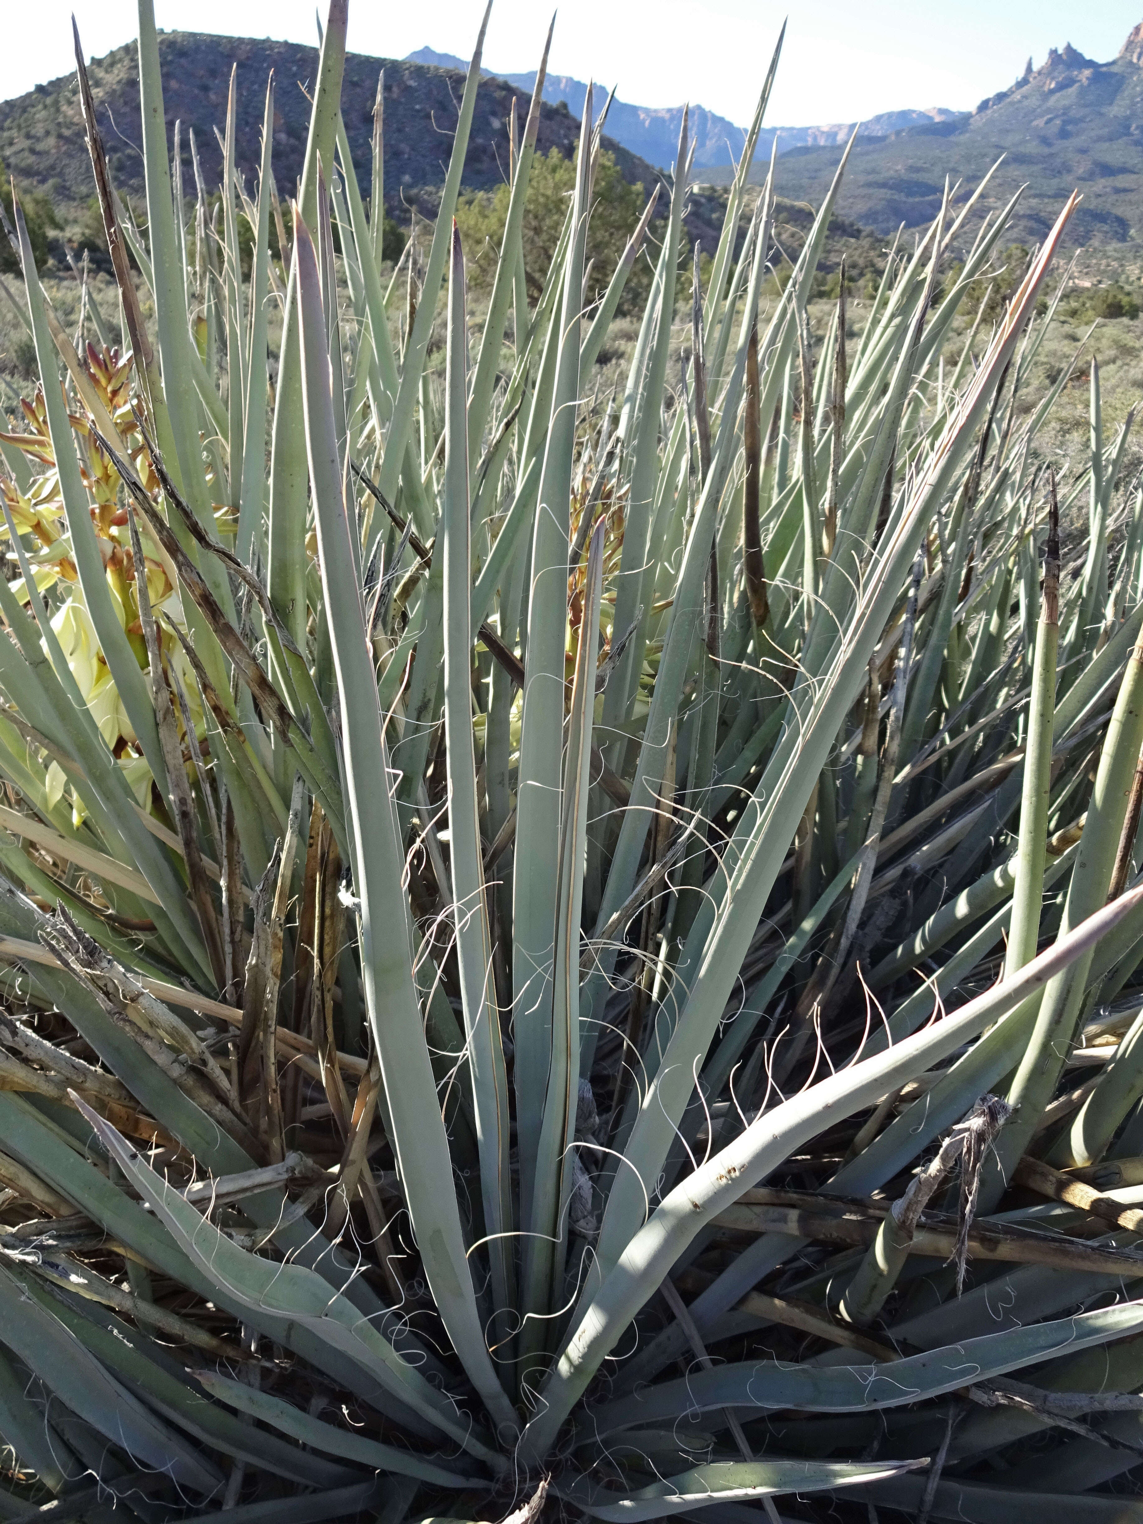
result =
M189 133L194 131L206 184L218 184L221 149L215 128L226 123L230 69L236 67L238 145L245 158L239 169L253 178L262 136L267 76L274 70L274 178L280 195L293 192L302 174L309 101L305 88L317 75L317 49L247 37L213 37L200 32L160 32L158 53L168 131L183 123L186 184L194 186ZM370 189L370 140L378 73L386 72L386 207L398 221L408 221L408 206L434 209L434 190L443 183L453 148L460 91L456 79L440 69L392 58L349 53L344 69L341 113L349 134L354 166L363 194ZM117 47L90 64L99 125L104 133L111 175L120 194L143 195L140 152L139 62L134 46ZM527 111L527 96L501 79L486 79L479 93L465 186L488 189L507 172L507 119L512 99ZM544 105L538 148L559 148L572 155L579 123L567 107ZM174 140L174 139L172 139ZM604 139L622 174L648 190L657 171L620 143ZM0 163L17 186L44 190L66 223L82 216L91 195L91 166L84 145L79 94L75 75L66 75L14 101L0 102Z

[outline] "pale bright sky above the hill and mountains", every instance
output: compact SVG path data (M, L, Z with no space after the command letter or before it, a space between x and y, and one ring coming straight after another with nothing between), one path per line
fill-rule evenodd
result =
M85 53L136 35L130 0L8 5L0 99L67 73L75 6ZM904 107L971 110L1012 84L1032 53L1071 43L1113 58L1143 20L1143 0L564 0L552 69L619 85L637 105L689 99L745 123L789 14L782 70L767 120L847 122ZM311 43L312 0L155 0L163 27ZM533 69L550 12L546 0L494 0L485 64ZM480 0L379 5L352 0L354 52L402 58L418 47L468 56Z

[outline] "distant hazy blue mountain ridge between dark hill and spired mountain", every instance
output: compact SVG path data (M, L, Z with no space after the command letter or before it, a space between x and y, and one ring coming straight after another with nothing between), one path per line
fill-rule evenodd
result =
M421 47L408 55L410 62L428 64L436 69L468 69L463 58L454 53L437 53L431 47ZM488 76L492 70L485 72ZM535 69L523 75L501 75L509 84L527 91L535 88ZM562 101L568 111L579 117L587 101L587 85L582 79L570 75L547 75L544 79L544 99L553 104ZM596 85L596 110L607 99L607 93ZM863 137L884 137L888 133L916 125L931 125L960 120L966 113L946 111L943 107L931 107L928 111L884 111L861 123ZM607 125L611 137L640 154L652 165L669 168L675 162L678 149L678 131L683 123L683 107L645 107L629 105L626 101L613 101L608 111ZM779 154L791 148L805 148L811 143L846 143L853 133L853 122L832 122L824 126L771 126L764 128L759 136L759 157L770 158L770 149L777 137ZM704 105L690 107L689 122L690 139L695 143L695 169L716 169L735 165L742 145L745 143L745 128L735 126L724 116L707 111Z

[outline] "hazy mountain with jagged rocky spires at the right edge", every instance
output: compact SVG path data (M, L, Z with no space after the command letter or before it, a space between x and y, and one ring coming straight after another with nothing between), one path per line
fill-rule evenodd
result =
M1042 238L1073 189L1082 190L1068 242L1114 244L1143 238L1143 23L1109 62L1085 58L1067 44L1039 69L981 101L971 116L858 139L838 209L879 233L904 223L917 227L940 209L945 175L962 181L960 197L1001 160L981 209L1024 190L1013 233ZM837 169L837 148L800 148L783 155L779 189L817 201ZM754 163L753 177L764 166ZM710 181L728 178L712 171Z

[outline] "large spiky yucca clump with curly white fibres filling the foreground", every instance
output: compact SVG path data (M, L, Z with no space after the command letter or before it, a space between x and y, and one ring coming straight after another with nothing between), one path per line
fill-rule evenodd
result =
M541 66L474 326L477 43L398 322L344 0L296 198L232 85L213 221L139 21L145 233L76 37L122 349L11 230L0 1510L1143 1518L1143 497L1094 364L1059 483L1027 395L1073 203L994 331L1012 206L946 195L815 341L776 53L692 309L686 122L582 309L590 96L532 305Z

